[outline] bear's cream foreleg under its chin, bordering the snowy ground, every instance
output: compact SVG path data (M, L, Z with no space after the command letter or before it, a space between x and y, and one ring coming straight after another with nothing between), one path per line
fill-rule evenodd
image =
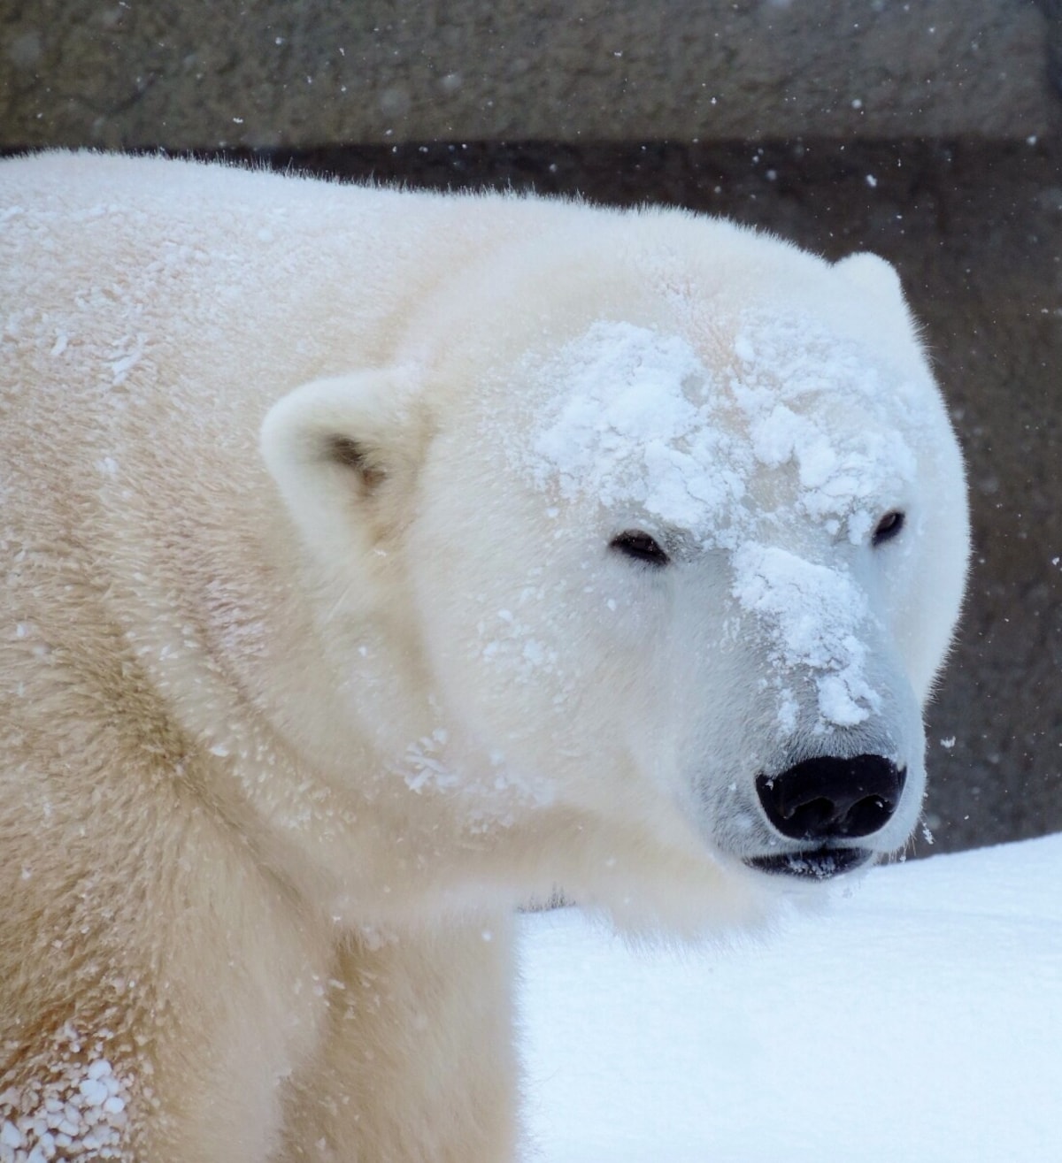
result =
M512 920L369 948L329 983L326 1041L292 1089L285 1163L503 1163L515 1141Z

